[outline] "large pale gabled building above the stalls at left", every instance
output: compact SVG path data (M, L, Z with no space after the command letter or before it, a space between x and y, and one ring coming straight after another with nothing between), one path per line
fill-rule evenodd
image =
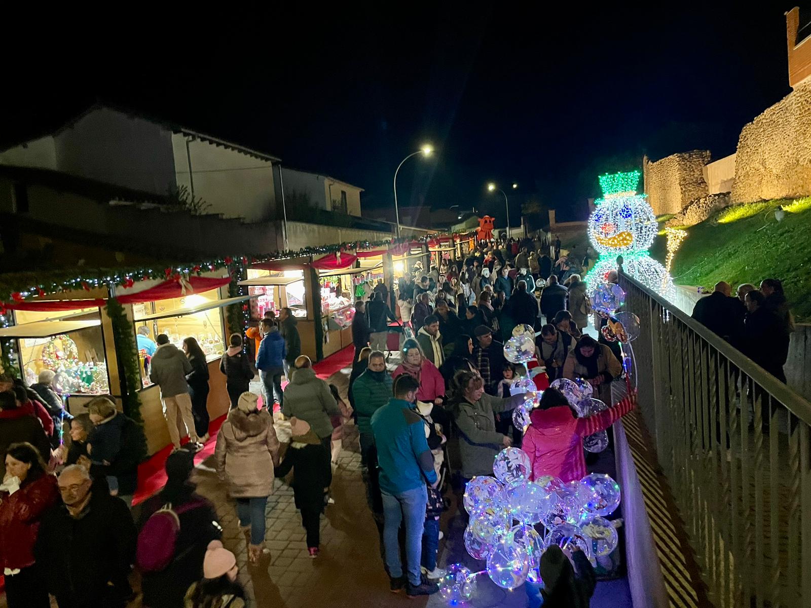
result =
M0 165L51 169L166 196L186 186L206 213L277 218L279 159L182 126L94 105L51 135L0 152Z

